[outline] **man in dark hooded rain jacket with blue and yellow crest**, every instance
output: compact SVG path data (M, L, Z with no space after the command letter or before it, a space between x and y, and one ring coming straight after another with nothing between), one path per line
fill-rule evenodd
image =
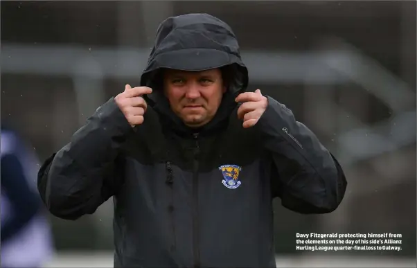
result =
M126 85L42 166L46 206L76 220L114 197L115 267L275 267L272 199L330 213L346 179L289 109L247 82L227 24L166 19L141 86Z

